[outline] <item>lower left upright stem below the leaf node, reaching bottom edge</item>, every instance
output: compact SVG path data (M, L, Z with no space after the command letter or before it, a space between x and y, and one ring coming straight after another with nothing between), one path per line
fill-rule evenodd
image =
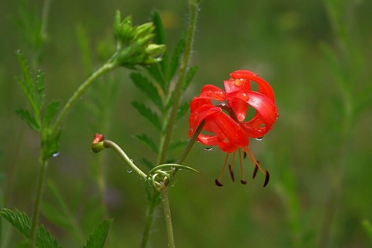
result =
M31 230L30 230L30 247L34 246L36 227L38 224L39 213L40 213L40 202L43 195L44 183L45 183L45 172L48 167L48 160L43 159L42 153L40 153L40 169L39 169L39 181L35 196L34 210L31 219Z

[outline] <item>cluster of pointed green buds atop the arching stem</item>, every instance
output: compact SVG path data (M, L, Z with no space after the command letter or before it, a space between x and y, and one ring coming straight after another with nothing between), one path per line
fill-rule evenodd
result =
M160 62L161 55L165 51L165 45L152 43L155 36L154 29L155 26L152 22L133 26L131 17L127 16L122 20L118 10L113 25L118 44L111 62L126 67Z

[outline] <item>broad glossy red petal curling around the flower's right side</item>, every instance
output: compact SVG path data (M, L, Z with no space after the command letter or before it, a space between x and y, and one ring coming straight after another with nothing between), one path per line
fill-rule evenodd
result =
M276 121L278 109L271 99L254 91L233 92L231 96L246 101L257 111L250 121L241 123L250 137L263 136L272 128ZM260 127L261 124L264 124L264 126Z

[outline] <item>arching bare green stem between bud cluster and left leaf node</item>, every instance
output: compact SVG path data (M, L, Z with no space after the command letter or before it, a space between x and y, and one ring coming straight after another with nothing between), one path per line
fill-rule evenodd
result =
M102 67L93 72L93 74L83 82L80 87L73 93L73 95L68 99L67 103L64 105L62 111L58 115L52 129L52 134L56 134L58 127L61 125L63 119L66 117L68 111L72 108L74 103L79 99L79 97L88 89L88 87L94 82L95 79L100 77L102 74L113 70L117 67L117 64L113 62L106 62Z

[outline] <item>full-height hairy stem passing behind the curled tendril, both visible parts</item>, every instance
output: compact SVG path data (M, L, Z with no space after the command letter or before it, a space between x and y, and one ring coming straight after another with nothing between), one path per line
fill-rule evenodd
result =
M159 149L159 154L158 154L158 158L156 161L156 165L160 165L164 163L166 159L166 153L168 151L169 142L171 140L171 135L172 135L173 126L175 123L176 113L177 113L178 106L179 106L180 99L181 99L181 91L182 91L182 87L183 87L184 80L185 80L186 69L187 69L187 65L189 62L189 58L190 58L191 45L192 45L193 35L194 35L194 30L195 30L198 4L190 1L189 8L190 8L190 18L189 18L189 24L187 28L186 45L185 45L185 50L184 50L184 56L183 56L182 63L181 63L179 79L175 86L175 99L173 101L173 106L172 106L170 115L165 116L164 118L164 123L166 123L166 128L165 128L166 131L163 132L161 136L160 149ZM141 248L145 248L147 245L148 236L150 233L150 227L151 227L152 219L154 216L153 212L154 212L155 205L156 205L155 199L159 197L159 192L157 192L155 189L153 190L154 191L151 194L151 198L149 199L147 203L146 216L145 216L146 221L145 221L145 228L144 228L142 241L141 241Z

